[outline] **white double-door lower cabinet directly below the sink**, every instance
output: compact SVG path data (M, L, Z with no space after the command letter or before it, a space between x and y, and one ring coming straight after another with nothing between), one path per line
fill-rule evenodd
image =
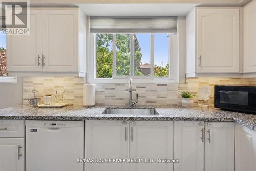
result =
M172 163L145 159L173 159L173 122L86 121L86 171L172 171ZM142 162L97 163L95 159L143 159Z

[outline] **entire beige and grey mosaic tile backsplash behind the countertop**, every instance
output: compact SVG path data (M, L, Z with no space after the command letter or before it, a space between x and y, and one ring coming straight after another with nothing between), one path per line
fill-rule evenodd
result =
M24 77L23 79L23 104L28 104L28 95L33 89L38 90L37 96L53 94L56 89L66 89L63 102L75 105L83 104L84 78L79 77ZM214 85L247 85L256 86L256 78L188 78L186 84L133 84L133 99L138 93L137 105L147 106L180 106L181 91L197 94L199 88L209 86L211 96L209 106L214 105ZM96 84L96 105L127 105L129 92L128 84ZM197 105L197 98L194 97Z

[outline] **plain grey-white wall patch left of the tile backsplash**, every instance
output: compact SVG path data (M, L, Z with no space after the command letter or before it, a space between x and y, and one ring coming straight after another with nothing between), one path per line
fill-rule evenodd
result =
M23 77L17 83L0 83L0 109L22 104Z

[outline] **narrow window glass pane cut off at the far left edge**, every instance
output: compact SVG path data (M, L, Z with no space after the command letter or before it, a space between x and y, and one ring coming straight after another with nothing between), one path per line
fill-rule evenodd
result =
M0 76L7 76L6 72L6 35L0 34Z

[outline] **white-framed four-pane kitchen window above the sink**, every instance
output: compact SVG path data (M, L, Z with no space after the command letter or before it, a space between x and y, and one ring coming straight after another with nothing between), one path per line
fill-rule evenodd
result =
M130 22L133 25L132 19L120 26L110 25L99 28L104 26L104 19L100 19L101 25L96 25L97 22L93 21L96 24L92 22L93 26L91 26L90 82L125 82L127 78L141 80L140 82L176 81L178 77L177 66L175 66L178 58L176 28L151 29L145 25L144 29L141 27L129 29L123 26L132 27L127 24ZM118 23L115 19L114 21ZM177 20L175 22L177 23ZM114 29L108 27L114 27ZM127 30L132 30L132 33L127 33Z

